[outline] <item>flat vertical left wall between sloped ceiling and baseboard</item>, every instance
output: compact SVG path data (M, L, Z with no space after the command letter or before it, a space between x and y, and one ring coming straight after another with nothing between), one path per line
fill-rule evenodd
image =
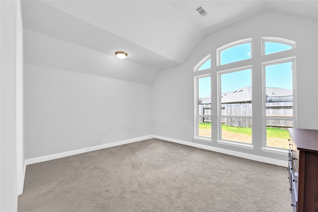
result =
M152 134L151 86L25 64L25 158Z

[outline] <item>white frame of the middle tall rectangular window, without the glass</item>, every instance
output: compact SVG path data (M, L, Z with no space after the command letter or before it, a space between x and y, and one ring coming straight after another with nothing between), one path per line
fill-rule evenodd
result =
M228 70L222 70L218 71L217 74L217 92L218 92L218 140L217 143L220 144L225 144L225 145L230 145L230 146L235 146L235 147L241 147L241 148L246 148L246 149L254 149L253 146L253 140L252 143L244 143L244 142L239 142L239 141L229 141L229 140L222 140L222 118L223 117L229 117L229 118L249 118L252 121L253 125L253 115L250 116L237 116L237 115L222 115L222 108L221 108L221 103L222 103L222 97L221 97L221 75L222 74L227 74L227 73L233 73L233 72L239 72L239 71L244 71L244 70L251 70L251 79L253 79L253 67L252 65L248 66L242 66L238 68L233 68L233 69L228 69ZM253 89L253 80L251 80L251 87ZM252 101L253 102L253 101Z

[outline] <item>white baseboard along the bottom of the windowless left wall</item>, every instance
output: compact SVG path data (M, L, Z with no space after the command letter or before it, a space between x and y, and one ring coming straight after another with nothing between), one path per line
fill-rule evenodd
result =
M72 150L72 151L68 151L68 152L61 152L61 153L52 154L52 155L46 155L46 156L41 156L41 157L36 157L36 158L29 158L29 159L24 160L24 165L26 166L26 165L30 165L30 164L34 164L34 163L40 163L40 162L44 162L44 161L48 161L48 160L54 160L54 159L58 159L58 158L63 158L63 157L67 157L67 156L85 153L85 152L91 152L91 151L95 151L95 150L99 150L99 149L120 146L123 144L134 143L134 142L147 140L147 139L151 139L151 138L154 138L154 135L146 135L146 136L142 136L142 137L131 138L131 139L116 141L116 142L112 142L112 143L101 144L98 146L91 146L91 147Z

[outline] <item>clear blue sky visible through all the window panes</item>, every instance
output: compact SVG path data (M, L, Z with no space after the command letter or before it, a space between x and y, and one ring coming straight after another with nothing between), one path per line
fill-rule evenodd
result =
M228 59L221 60L221 64L249 59L251 57L250 48L250 44L247 43L247 45L242 44L226 49L221 53L221 59ZM265 42L265 54L272 54L288 49L291 49L291 47L288 45ZM211 68L211 59L204 63L199 70L204 70L207 68ZM254 69L253 71L261 71L261 67ZM251 72L252 70L248 69L239 72L222 74L221 91L233 92L242 87L251 86ZM266 66L265 83L266 87L292 90L292 62ZM199 79L199 97L202 98L209 95L211 95L211 78L208 77Z

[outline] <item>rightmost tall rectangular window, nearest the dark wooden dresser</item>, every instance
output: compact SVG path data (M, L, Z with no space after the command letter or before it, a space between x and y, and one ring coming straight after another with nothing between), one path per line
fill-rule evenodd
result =
M265 145L288 149L294 123L294 58L263 64Z

